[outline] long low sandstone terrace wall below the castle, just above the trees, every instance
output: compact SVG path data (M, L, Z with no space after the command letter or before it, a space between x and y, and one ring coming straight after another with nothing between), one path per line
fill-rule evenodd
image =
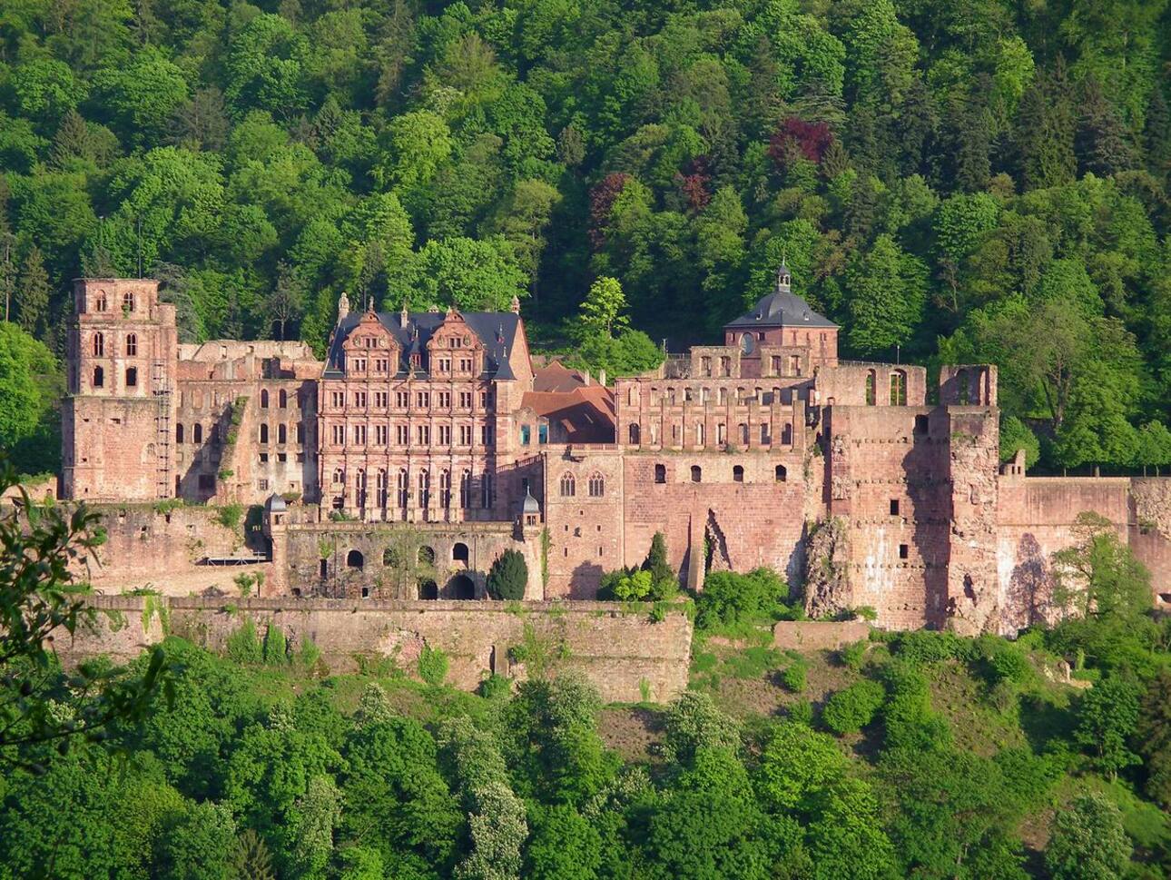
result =
M61 637L66 662L96 654L117 661L135 657L164 637L162 616L144 621L143 596L96 596L93 602L116 612L100 628ZM424 644L450 656L448 681L472 690L489 671L525 676L511 664L509 649L526 637L526 627L554 647L563 646L557 669L581 670L608 702L637 702L645 696L665 702L687 684L692 627L672 612L660 622L646 613L626 612L605 602L355 602L330 599L249 599L233 605L207 599L171 598L167 630L213 650L221 650L245 616L263 634L279 626L289 643L311 639L333 673L354 671L358 659L393 657L415 674Z

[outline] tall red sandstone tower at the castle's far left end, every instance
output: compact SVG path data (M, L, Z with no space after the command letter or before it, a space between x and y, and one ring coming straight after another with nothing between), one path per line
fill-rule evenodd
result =
M74 281L61 407L63 497L173 497L177 357L174 306L158 301L158 281Z

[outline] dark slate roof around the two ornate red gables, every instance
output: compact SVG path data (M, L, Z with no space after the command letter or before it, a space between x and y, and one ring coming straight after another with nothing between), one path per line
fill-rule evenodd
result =
M482 375L486 378L516 378L512 364L508 363L508 353L516 343L520 315L514 312L460 312L460 315L468 329L484 343ZM335 328L334 339L329 345L329 355L326 357L326 378L338 378L342 375L342 343L357 327L362 316L362 312L351 312ZM400 319L397 312L378 312L377 316L378 322L398 342L402 356L398 364L399 375L408 371L409 359L412 354L423 355L423 369L426 370L429 368L426 362L427 341L444 322L445 314L443 312L412 312L408 315L405 328L399 323Z

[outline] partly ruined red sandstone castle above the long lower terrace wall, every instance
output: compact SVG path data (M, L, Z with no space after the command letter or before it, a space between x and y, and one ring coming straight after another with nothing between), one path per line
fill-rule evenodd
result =
M813 614L1013 633L1050 610L1052 554L1095 511L1171 602L1171 480L1001 469L994 366L944 367L929 402L923 367L840 360L785 266L723 345L612 384L532 356L515 301L337 311L321 362L183 345L156 281L76 282L61 493L121 511L110 558L253 562L263 595L472 599L513 547L526 598L588 599L663 532L691 588L769 566ZM119 533L128 505L172 498L252 506L247 550L215 555L170 512ZM402 577L404 547L427 577Z

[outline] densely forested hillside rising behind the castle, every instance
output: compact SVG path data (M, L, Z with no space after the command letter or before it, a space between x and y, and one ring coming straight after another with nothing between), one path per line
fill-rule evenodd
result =
M319 347L343 289L516 294L612 373L785 257L847 356L997 361L1008 448L1166 464L1169 33L1166 0L7 0L0 298L60 355L81 273ZM650 339L573 320L601 277Z

